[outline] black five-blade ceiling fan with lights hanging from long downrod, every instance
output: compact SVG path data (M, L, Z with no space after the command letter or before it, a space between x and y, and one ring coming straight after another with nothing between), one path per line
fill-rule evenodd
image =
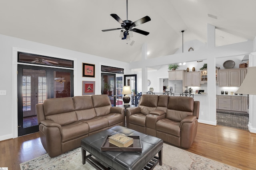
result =
M143 31L141 29L137 29L137 28L133 28L136 27L138 25L141 25L142 23L146 23L148 21L150 21L150 17L149 16L145 16L143 18L140 18L139 20L132 22L130 20L128 20L128 0L126 0L126 20L122 20L118 15L116 14L110 14L110 16L112 16L116 21L118 21L121 24L122 28L113 28L113 29L103 29L102 31L113 31L113 30L118 30L118 29L122 29L120 32L120 37L122 39L126 39L126 40L130 40L130 37L132 37L132 32L136 32L136 33L140 33L142 35L148 35L149 32L147 31Z

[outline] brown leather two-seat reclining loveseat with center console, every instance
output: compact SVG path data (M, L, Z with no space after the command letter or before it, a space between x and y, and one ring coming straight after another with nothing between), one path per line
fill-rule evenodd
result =
M138 107L126 109L126 124L130 129L188 149L196 137L199 105L190 97L144 94Z

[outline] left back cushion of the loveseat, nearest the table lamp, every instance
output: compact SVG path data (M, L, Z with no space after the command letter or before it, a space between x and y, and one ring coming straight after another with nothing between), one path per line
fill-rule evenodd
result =
M158 103L158 95L143 94L140 97L140 113L148 115L151 111L155 111Z

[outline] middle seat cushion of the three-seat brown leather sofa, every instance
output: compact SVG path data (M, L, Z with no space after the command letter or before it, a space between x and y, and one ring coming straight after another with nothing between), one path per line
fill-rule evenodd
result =
M90 120L82 122L85 122L89 125L89 133L99 131L101 129L108 127L108 119L106 117L94 117Z

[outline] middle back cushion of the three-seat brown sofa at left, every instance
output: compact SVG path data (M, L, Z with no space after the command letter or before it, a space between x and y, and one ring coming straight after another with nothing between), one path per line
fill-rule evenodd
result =
M78 121L96 117L96 112L92 104L92 96L75 96L73 97L73 101Z

